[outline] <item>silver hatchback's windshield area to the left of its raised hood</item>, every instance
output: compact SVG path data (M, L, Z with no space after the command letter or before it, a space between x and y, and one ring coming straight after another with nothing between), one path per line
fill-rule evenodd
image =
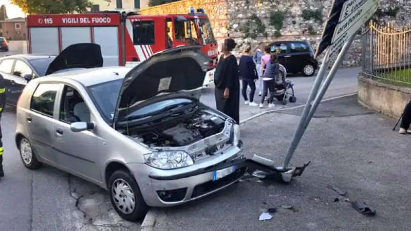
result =
M123 79L116 79L88 87L90 95L97 104L100 114L109 123L113 122L114 111L116 110L117 98L122 83Z

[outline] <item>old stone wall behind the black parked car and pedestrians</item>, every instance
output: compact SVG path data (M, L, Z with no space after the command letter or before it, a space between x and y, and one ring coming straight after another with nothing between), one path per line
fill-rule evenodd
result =
M399 22L411 25L411 1L382 0L379 19L382 23ZM319 43L323 24L328 17L331 1L322 0L183 0L141 10L142 14L187 13L190 6L203 8L210 17L217 39L227 33L238 44L253 47L260 42L275 40L306 40L313 46ZM322 57L319 57L321 62ZM342 66L361 64L360 37L354 41Z

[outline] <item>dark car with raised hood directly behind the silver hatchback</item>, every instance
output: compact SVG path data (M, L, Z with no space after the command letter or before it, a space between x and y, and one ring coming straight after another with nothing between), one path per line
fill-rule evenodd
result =
M68 49L74 46L74 49ZM87 47L88 46L88 47ZM88 44L74 44L68 46L63 50L62 56L53 55L40 55L40 54L18 54L18 55L8 55L0 58L0 74L3 75L6 81L6 95L7 104L15 106L17 104L18 97L22 93L24 87L26 87L28 81L33 78L49 75L51 72L59 73L65 71L74 71L83 68L94 68L99 67L99 64L94 64L96 58L92 57L91 54L82 54L80 57L77 54L81 53L82 49L87 47L88 49L98 49L100 51L99 45L88 45ZM90 48L91 47L91 48ZM69 54L65 54L68 51ZM65 56L64 56L65 55ZM68 59L62 59L59 57L70 57ZM76 63L72 63L76 61ZM55 67L65 67L63 69Z

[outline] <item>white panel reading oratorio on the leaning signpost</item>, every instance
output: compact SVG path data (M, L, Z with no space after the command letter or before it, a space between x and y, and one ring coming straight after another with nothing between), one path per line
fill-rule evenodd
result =
M344 3L349 5L351 2ZM348 38L356 33L358 29L377 11L378 0L366 0L359 8L347 7L347 11L352 10L347 17L343 17L342 20L337 24L332 35L331 44L337 41L345 33L348 34ZM342 12L344 15L347 12Z

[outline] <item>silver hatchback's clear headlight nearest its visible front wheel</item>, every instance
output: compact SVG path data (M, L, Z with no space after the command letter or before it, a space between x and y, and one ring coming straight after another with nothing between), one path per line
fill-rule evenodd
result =
M144 162L157 169L177 169L194 164L191 156L183 151L162 151L144 155Z

